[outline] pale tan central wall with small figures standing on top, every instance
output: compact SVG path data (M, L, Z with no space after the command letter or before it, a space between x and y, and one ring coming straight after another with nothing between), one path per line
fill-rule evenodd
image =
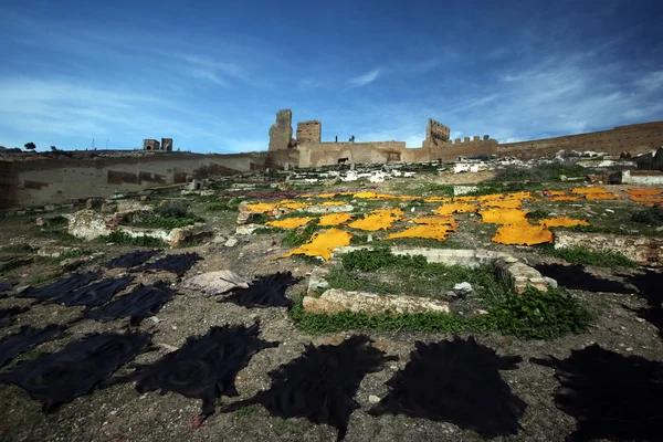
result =
M404 141L305 143L297 146L299 167L319 167L348 162L400 162L406 154Z

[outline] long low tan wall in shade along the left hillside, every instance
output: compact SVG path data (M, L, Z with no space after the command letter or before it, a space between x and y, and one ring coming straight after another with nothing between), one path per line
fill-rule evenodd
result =
M267 152L165 154L123 158L31 158L0 160L0 209L109 197L187 182L191 178L263 169Z

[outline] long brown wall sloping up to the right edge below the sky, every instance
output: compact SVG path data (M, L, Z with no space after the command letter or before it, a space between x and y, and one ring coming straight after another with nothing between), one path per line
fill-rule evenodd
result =
M559 150L592 150L610 155L645 152L663 146L663 122L618 126L612 130L501 144L497 154L523 159L554 156Z

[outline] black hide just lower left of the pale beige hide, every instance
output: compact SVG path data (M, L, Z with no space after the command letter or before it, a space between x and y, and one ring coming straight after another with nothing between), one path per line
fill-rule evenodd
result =
M112 303L86 311L85 317L103 322L130 317L131 324L137 325L143 318L156 315L173 296L175 291L161 281L140 284Z

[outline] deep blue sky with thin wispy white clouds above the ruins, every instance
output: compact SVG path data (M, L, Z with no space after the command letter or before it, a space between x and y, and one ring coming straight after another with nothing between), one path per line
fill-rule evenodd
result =
M0 3L0 145L264 150L323 139L525 140L663 119L663 1Z

